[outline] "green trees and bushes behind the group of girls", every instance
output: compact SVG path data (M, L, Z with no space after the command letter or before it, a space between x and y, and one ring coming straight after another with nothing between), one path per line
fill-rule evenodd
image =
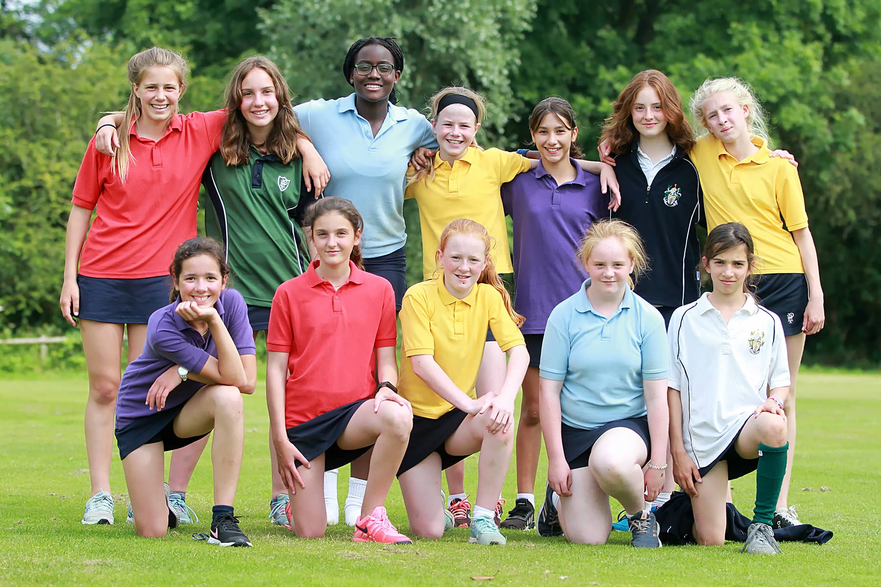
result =
M70 190L100 113L121 108L126 62L152 45L192 69L184 112L222 106L233 66L264 53L299 101L351 92L345 51L396 36L399 104L444 85L492 102L482 144L524 146L540 99L572 102L596 158L611 102L663 70L687 104L708 76L748 80L774 143L796 155L825 290L811 363L881 363L881 3L877 0L0 1L0 337L69 332L58 311ZM418 210L406 206L410 282Z

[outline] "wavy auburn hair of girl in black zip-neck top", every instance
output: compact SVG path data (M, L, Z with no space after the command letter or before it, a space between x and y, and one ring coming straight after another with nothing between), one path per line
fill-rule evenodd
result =
M667 136L670 141L682 150L692 150L694 147L694 131L682 111L682 97L676 91L676 87L670 82L670 78L658 70L640 71L633 76L630 84L618 94L618 99L612 104L611 116L605 119L603 134L600 143L608 143L611 152L615 154L626 153L630 145L640 137L640 133L633 126L633 117L630 112L636 94L644 87L651 87L661 99L661 108L667 117Z

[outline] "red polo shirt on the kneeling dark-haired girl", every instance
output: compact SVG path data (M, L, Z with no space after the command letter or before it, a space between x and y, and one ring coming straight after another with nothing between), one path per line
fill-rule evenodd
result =
M338 290L315 273L278 286L266 349L287 353L285 427L292 428L376 389L375 352L397 340L395 294L378 275L356 268Z

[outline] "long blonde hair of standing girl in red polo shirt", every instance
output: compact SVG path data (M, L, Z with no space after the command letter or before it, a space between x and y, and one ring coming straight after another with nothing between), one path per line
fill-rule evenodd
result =
M141 100L137 98L137 94L132 88L133 85L141 83L144 73L152 67L167 67L174 71L177 75L177 81L181 84L181 96L187 89L187 72L189 67L187 61L180 53L175 53L170 49L159 47L151 47L131 56L129 60L129 103L125 106L124 118L122 119L122 127L119 129L119 149L116 150L111 160L111 168L113 172L119 173L120 180L125 183L129 177L129 165L135 163L135 158L131 154L131 145L129 142L129 128L132 119L141 116ZM177 106L174 106L175 114Z

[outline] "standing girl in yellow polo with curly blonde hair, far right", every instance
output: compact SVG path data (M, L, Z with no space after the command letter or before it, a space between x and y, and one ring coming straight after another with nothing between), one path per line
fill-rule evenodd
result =
M808 228L802 185L788 162L769 158L765 113L749 85L735 77L707 79L692 96L692 114L708 132L692 150L707 207L707 230L743 223L764 260L756 295L781 319L791 374L784 409L789 451L774 528L800 524L787 507L796 446L796 376L806 334L823 329L823 289Z

